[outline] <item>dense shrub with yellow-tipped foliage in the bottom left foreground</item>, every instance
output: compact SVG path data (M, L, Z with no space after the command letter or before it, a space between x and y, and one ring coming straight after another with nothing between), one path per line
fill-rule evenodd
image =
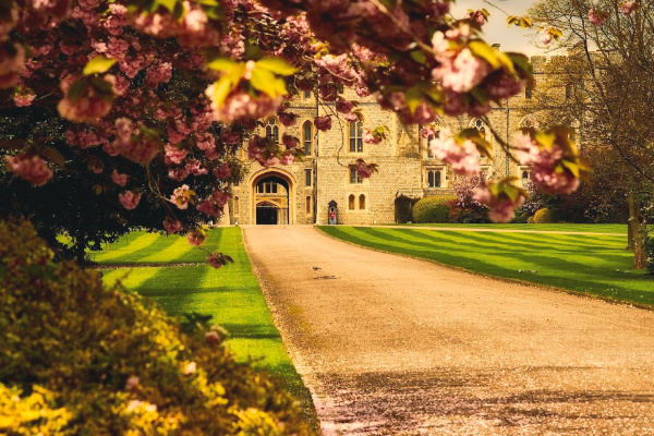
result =
M312 434L216 327L178 322L0 222L0 434Z

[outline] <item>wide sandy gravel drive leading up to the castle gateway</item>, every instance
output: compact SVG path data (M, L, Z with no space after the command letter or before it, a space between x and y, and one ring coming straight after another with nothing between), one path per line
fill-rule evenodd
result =
M324 435L654 435L654 312L244 234Z

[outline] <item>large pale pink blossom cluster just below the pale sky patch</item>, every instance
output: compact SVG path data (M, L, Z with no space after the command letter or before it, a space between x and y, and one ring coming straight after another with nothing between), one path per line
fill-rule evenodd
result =
M453 59L439 60L440 65L432 70L432 75L440 82L440 86L455 93L465 93L474 88L492 71L486 61L477 59L468 48L461 50Z

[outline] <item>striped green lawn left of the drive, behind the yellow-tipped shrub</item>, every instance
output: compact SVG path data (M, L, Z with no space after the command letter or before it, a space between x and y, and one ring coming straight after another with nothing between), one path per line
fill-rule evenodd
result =
M234 263L214 269L205 262L207 254L190 245L185 238L140 231L121 238L93 258L106 267L117 266L105 270L105 281L120 279L128 289L155 300L170 315L213 315L211 323L220 324L230 334L226 346L240 360L251 356L256 366L279 377L316 426L311 393L272 324L243 247L241 229L213 229L204 247L229 254Z

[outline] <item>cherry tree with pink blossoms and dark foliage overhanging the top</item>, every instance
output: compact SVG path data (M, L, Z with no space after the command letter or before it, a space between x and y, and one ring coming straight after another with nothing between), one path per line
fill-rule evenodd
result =
M235 147L264 166L301 157L298 138L279 145L256 134L258 120L271 114L294 122L289 101L301 90L354 120L355 104L338 95L340 86L352 87L403 122L422 124L441 114L483 117L520 93L531 80L526 58L483 40L485 11L453 20L449 7L448 0L7 0L3 114L44 110L59 129L3 141L7 170L38 190L87 162L87 189L119 208L126 225L130 214L158 202L161 216L148 228L189 232L199 244L190 211L221 214L229 184L241 175ZM316 128L330 129L331 118L317 118ZM547 160L543 180L566 191L585 169L567 148L566 132L557 132L531 134L529 154L533 162ZM374 130L366 140L383 136ZM488 144L472 131L452 138L432 146L444 148L461 173L479 172L472 162ZM562 153L549 153L558 142ZM360 160L356 169L371 177L376 165ZM547 171L562 171L557 181L567 183L552 183ZM521 201L516 192L505 180L480 198L506 209L507 198Z

